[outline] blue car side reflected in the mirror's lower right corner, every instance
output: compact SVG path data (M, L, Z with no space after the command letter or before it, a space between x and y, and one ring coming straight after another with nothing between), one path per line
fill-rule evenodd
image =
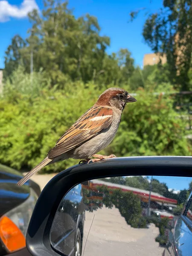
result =
M192 243L192 193L183 212L175 221L174 228L169 232L169 240L163 256L190 256Z

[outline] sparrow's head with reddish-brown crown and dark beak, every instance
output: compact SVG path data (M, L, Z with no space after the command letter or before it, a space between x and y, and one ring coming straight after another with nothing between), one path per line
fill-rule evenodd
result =
M109 88L100 96L96 105L111 106L123 110L129 102L136 102L137 99L132 97L127 91L120 88Z

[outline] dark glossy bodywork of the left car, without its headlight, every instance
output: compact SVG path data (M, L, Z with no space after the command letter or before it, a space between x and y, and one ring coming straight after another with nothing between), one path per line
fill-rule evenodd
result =
M25 186L17 186L17 182L21 177L23 176L20 172L0 164L0 218L10 210L25 202L30 196L30 188L33 189L37 196L40 195L40 187L32 180L29 180ZM0 239L0 256L8 254L11 256L31 255L26 248L13 253L8 253Z

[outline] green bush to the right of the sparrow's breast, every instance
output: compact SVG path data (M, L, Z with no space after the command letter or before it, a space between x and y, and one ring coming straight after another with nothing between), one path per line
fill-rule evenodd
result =
M169 96L138 90L137 104L125 108L117 136L106 151L121 156L191 155L185 127Z

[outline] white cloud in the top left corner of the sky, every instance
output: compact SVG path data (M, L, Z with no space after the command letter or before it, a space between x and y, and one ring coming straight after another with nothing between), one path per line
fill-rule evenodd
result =
M10 17L22 19L33 9L38 9L35 0L23 0L20 6L11 5L6 0L0 0L0 22L6 22Z

